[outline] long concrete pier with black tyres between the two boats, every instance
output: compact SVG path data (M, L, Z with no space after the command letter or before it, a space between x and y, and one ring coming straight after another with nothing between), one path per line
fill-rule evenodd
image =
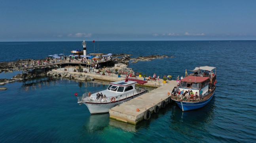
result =
M120 104L120 106L111 108L109 110L110 118L125 123L137 124L144 119L144 114L147 110L152 114L156 105L161 108L163 101L169 103L168 100L171 97L168 95L168 92L171 93L174 86L176 86L176 81L171 80L168 84L158 87L149 93L145 93ZM140 111L137 111L137 109Z

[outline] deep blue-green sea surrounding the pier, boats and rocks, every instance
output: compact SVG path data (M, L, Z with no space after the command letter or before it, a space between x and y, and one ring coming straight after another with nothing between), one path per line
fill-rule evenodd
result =
M42 59L83 50L82 41L0 42L0 62ZM108 82L52 76L0 87L0 142L162 143L256 142L256 41L87 41L87 53L167 55L128 65L148 76L184 76L187 69L216 67L216 91L205 107L182 112L168 104L136 126L109 114L90 115L78 96L105 89ZM173 56L173 58L170 58ZM215 71L214 71L215 72ZM2 72L11 78L21 71ZM171 91L172 89L170 89ZM157 95L155 95L157 96Z

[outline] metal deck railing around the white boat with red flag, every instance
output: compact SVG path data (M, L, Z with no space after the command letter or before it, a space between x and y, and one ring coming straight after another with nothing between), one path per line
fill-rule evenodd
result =
M83 96L77 97L77 98L78 98L78 102L80 102L80 103L82 101L93 102L93 103L112 103L112 102L116 102L116 101L126 102L129 97L134 97L137 94L140 95L143 92L145 92L144 89L138 88L135 91L131 91L129 93L121 94L121 95L118 95L118 96L112 96L112 97L105 97L105 98L104 97L103 98L102 97L91 97L91 96L89 97L86 93L84 93ZM94 93L97 93L97 91L95 91Z

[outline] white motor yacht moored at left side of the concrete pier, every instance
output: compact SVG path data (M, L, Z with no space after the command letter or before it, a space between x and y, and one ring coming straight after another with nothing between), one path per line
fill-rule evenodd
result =
M91 114L108 113L110 108L138 97L146 92L145 89L135 87L136 84L145 84L147 81L129 79L112 82L106 90L87 92L77 97L78 103L85 104ZM97 93L106 95L106 98L97 97Z

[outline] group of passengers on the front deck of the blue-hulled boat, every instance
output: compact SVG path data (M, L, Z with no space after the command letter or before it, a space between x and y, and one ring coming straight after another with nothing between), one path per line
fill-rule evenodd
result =
M185 99L201 99L202 98L203 91L199 89L199 94L197 92L193 92L192 90L184 91L184 89L181 91L179 87L174 87L172 91L172 95L179 97L182 100Z

